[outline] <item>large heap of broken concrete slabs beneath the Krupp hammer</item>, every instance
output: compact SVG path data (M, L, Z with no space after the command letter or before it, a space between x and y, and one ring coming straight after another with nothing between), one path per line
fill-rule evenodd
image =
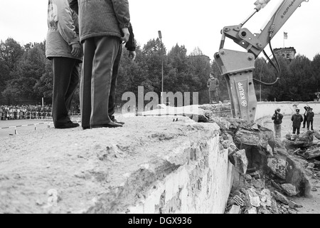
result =
M229 160L235 167L225 213L297 214L302 206L291 198L309 196L311 185L305 163L287 150L289 143L275 140L272 130L255 123L216 116L210 122L220 126L220 145L229 148ZM294 147L309 146L310 137L294 138ZM320 155L320 150L309 150L306 155L318 152Z

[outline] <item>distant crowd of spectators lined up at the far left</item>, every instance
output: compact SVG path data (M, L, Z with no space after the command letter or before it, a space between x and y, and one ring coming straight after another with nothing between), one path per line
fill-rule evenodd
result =
M79 115L78 107L69 115ZM0 120L52 119L51 105L0 105Z

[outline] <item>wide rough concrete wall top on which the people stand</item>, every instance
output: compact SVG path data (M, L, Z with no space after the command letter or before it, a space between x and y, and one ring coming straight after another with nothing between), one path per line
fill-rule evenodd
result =
M196 159L187 150L193 143L219 135L215 123L182 116L122 120L123 128L50 128L1 138L0 212L90 212L102 196L101 212L123 212L154 182ZM48 207L55 197L58 206Z

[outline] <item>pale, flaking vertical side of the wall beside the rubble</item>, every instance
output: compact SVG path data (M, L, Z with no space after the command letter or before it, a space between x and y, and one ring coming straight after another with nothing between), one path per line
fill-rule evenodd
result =
M220 149L216 135L193 147L177 147L175 154L190 152L191 159L149 190L146 198L127 213L223 214L233 182L228 149ZM176 156L175 155L175 156Z

